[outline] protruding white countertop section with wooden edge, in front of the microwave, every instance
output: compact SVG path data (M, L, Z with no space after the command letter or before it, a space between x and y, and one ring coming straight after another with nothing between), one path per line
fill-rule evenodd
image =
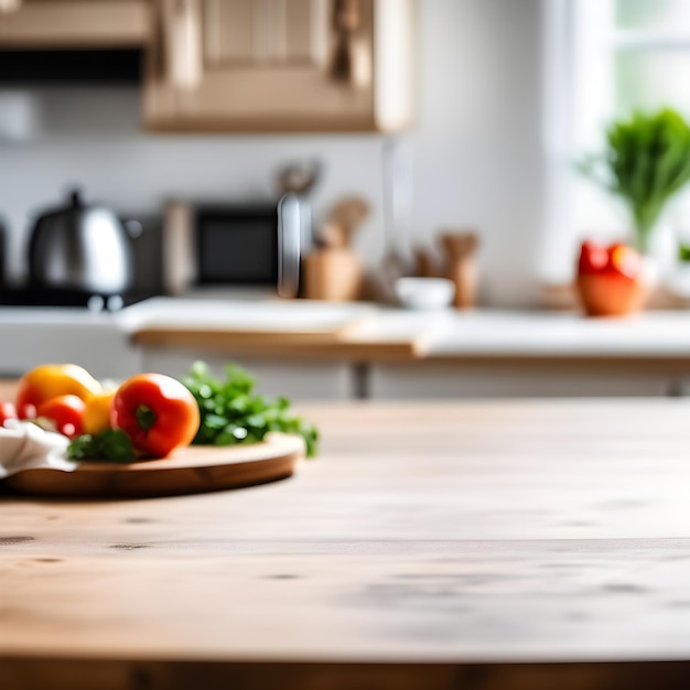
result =
M444 327L438 314L366 303L166 298L125 310L122 323L142 345L365 360L418 358Z

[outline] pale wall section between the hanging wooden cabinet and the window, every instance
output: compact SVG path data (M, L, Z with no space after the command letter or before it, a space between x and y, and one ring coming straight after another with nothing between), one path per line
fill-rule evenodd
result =
M420 4L418 231L476 226L484 299L530 303L542 211L541 3Z

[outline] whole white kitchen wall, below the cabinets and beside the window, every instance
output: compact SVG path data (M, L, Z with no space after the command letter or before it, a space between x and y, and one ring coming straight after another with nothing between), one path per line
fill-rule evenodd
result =
M400 246L441 227L482 235L483 298L529 303L541 220L541 0L419 0L419 121L402 137L413 197ZM276 170L320 158L320 217L342 194L375 207L358 239L374 263L385 250L384 138L377 136L155 136L140 131L133 89L32 89L40 120L25 141L0 144L0 209L11 272L22 271L28 214L73 183L123 212L170 196L239 200L274 193ZM0 108L0 118L2 109Z

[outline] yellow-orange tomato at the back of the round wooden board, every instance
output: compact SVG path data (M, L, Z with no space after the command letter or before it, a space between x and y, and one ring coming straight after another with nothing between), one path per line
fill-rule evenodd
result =
M39 407L57 396L77 396L86 400L100 391L100 384L76 364L45 364L21 377L17 391L17 411L21 419L32 419Z

